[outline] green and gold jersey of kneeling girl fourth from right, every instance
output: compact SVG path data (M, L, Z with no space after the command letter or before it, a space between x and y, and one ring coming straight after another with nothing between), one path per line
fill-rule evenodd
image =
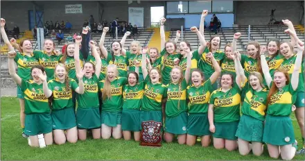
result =
M199 87L191 85L187 87L186 92L189 97L189 113L207 113L209 99L213 92L211 80L201 83Z

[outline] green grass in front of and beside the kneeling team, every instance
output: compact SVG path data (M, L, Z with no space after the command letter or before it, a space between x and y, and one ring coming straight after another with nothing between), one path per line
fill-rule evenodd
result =
M302 143L300 130L293 117L297 141ZM299 144L299 148L302 145ZM295 160L304 160L296 156ZM139 146L139 142L123 139L87 139L76 144L51 145L45 149L31 148L21 137L19 101L13 97L1 97L1 160L272 160L265 148L263 155L242 156L238 151L216 150L211 145L202 148L162 143L161 148Z

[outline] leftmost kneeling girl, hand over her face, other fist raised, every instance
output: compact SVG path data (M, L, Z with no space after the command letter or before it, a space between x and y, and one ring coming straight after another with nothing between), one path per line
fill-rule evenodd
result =
M12 79L19 85L21 91L24 92L24 112L26 114L24 133L29 136L30 146L40 146L37 137L40 133L44 135L46 145L50 145L53 143L52 119L48 99L44 96L42 87L42 75L45 74L44 68L40 65L34 65L30 69L32 79L20 78L15 71L15 56L15 51L8 52L8 71Z

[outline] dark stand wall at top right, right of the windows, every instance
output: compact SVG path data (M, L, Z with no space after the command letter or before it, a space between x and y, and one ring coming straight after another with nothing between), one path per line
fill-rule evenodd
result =
M299 24L301 1L236 1L236 24L268 24L271 10L275 10L275 19L289 19Z

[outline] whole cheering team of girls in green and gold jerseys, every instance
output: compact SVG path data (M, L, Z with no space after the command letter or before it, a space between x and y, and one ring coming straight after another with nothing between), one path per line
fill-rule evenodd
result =
M126 51L129 32L107 51L107 27L98 47L89 42L91 54L85 50L85 36L67 44L62 54L54 51L51 40L45 41L44 51L33 51L29 40L19 45L12 40L20 51L15 53L1 19L1 33L10 51L10 75L18 94L24 95L20 99L21 127L31 145L37 146L40 133L47 144L53 140L64 144L85 140L87 130L92 130L94 139L123 136L128 140L133 133L139 141L141 122L158 121L168 143L177 137L179 144L193 146L200 137L202 146L209 146L212 140L216 149L238 149L241 155L250 151L261 155L266 143L270 157L292 159L297 150L292 111L304 144L304 42L293 24L283 20L291 42L270 40L266 46L249 42L243 55L236 50L241 33L235 33L223 52L220 36L211 36L209 42L204 39L207 13L202 12L199 30L190 28L200 40L195 51L185 41L177 49L180 31L175 40L166 41L166 19L162 18L160 53L155 47L141 49L137 41ZM88 28L82 33L87 35Z

